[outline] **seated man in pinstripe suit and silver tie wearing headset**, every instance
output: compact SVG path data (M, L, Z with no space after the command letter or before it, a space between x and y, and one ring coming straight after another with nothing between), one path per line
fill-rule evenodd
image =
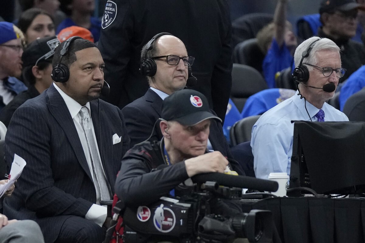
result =
M4 213L35 220L46 243L100 243L105 234L101 226L108 220L106 208L99 205L103 199L99 176L107 182L111 199L130 140L118 107L98 99L104 62L95 44L81 38L66 40L53 58L54 68L61 64L68 68L69 77L63 79L54 71L53 80L62 82L25 102L9 124L7 165L14 153L27 165L13 196L4 201ZM96 145L93 151L83 130L85 107L91 117L87 121ZM95 169L98 159L101 171Z

